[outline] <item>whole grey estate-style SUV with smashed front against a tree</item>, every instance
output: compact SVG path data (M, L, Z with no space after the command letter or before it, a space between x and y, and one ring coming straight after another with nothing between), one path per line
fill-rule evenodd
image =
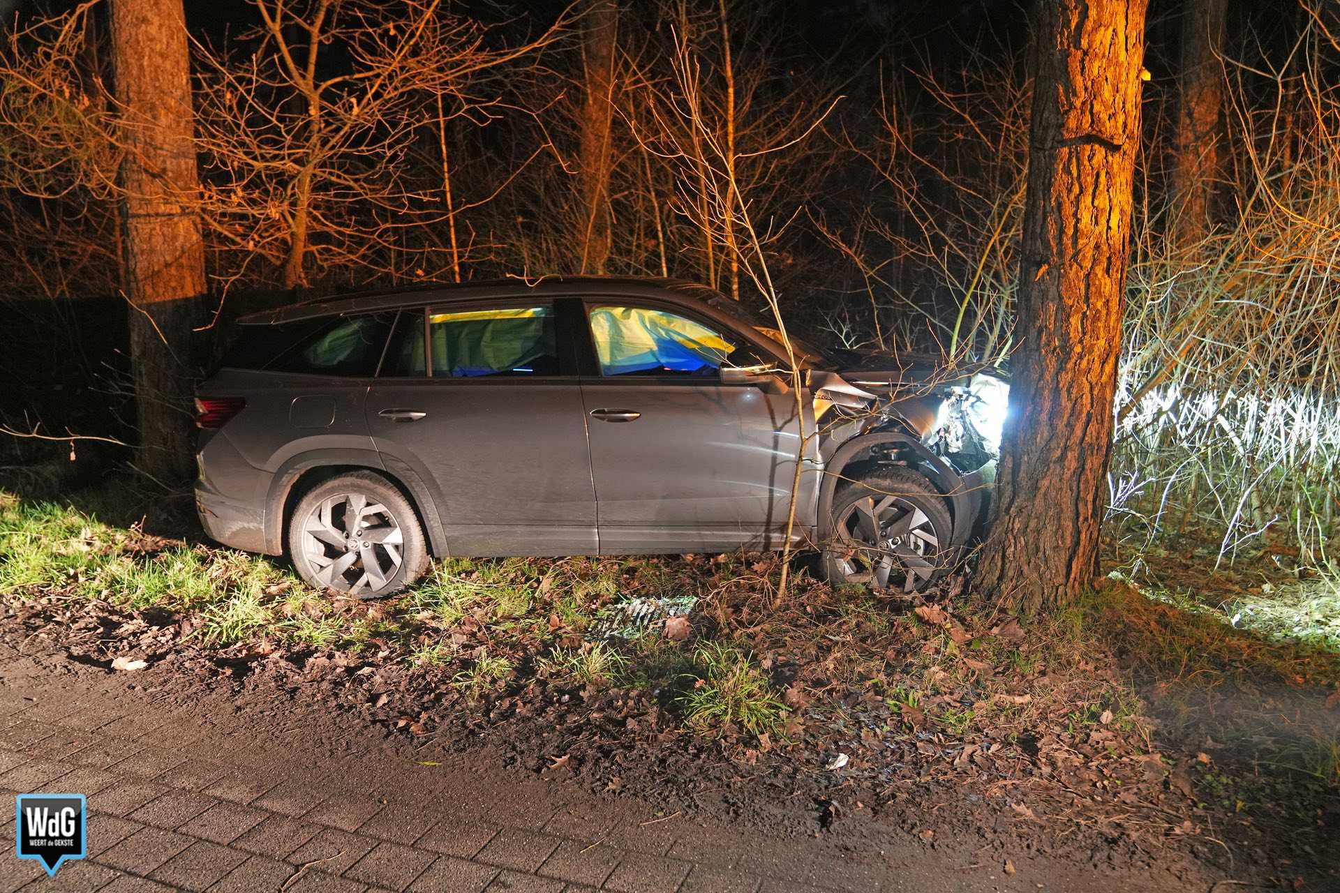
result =
M716 292L551 278L244 317L198 388L206 533L360 597L430 557L779 549L923 588L977 526L1005 386L795 344Z

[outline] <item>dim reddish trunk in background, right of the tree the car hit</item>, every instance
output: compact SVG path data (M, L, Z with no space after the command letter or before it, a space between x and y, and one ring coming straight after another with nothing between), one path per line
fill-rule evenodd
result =
M1213 225L1214 187L1222 170L1223 46L1227 0L1186 0L1182 72L1170 195L1179 248L1205 238Z

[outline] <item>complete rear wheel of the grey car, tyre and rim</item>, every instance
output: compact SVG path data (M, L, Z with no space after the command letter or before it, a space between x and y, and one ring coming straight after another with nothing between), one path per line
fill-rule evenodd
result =
M352 513L360 526L351 532ZM397 593L422 577L429 562L414 506L373 471L312 487L288 521L288 554L308 584L356 598Z

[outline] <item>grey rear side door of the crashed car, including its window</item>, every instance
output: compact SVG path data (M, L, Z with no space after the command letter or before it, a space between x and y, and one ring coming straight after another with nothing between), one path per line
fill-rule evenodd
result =
M533 299L401 313L368 428L387 467L430 489L452 554L596 550L582 388L560 328Z

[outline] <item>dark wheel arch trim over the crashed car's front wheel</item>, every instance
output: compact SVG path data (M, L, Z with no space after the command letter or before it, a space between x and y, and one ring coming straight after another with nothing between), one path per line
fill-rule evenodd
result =
M918 471L945 497L949 505L954 529L951 544L961 546L967 542L977 517L977 498L962 477L947 462L926 449L919 439L903 431L872 431L859 434L840 447L824 465L823 483L819 487L819 542L832 537L832 505L838 485L846 479L848 469L855 470L864 462L874 462L879 447L892 446L907 466Z

